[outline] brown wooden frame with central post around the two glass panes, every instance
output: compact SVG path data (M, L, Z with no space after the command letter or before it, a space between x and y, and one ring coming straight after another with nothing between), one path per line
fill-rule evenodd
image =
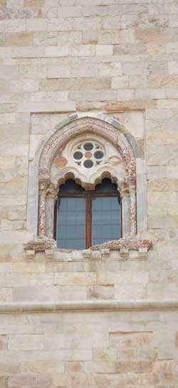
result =
M116 197L120 204L120 238L122 238L122 198L120 193L97 193L96 190L85 190L83 193L60 193L58 198L85 198L85 249L92 246L92 198L96 197ZM54 205L54 235L53 238L57 240L57 212L58 212L58 198Z

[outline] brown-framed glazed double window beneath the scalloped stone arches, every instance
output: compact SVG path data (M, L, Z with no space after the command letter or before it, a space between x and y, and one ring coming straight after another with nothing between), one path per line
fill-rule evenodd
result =
M54 220L58 248L87 249L91 245L120 239L121 209L117 185L105 178L95 190L84 190L68 179L59 188Z

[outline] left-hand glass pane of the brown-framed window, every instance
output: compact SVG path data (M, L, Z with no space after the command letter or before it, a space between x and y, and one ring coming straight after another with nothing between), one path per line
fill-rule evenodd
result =
M85 249L85 198L58 198L57 247Z

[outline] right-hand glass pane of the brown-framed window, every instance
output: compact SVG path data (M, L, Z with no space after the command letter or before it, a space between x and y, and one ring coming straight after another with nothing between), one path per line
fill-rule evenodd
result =
M96 197L92 200L92 244L120 239L120 203L118 197Z

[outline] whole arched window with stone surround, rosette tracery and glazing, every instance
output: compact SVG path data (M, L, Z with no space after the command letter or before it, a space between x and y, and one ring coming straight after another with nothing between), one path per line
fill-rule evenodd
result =
M28 230L45 246L56 244L54 235L58 247L72 249L137 239L147 227L146 204L140 146L103 114L74 114L42 141L29 163Z

